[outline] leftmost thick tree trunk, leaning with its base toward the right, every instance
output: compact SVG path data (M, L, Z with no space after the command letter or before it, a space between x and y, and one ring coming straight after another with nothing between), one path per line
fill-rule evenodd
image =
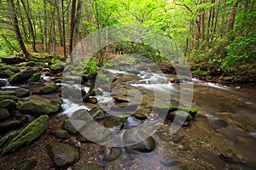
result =
M14 0L9 0L9 9L10 9L10 14L11 14L11 20L13 22L13 26L15 29L15 36L20 44L20 48L23 52L23 54L25 55L26 59L30 59L30 54L27 52L26 47L24 45L24 42L22 40L21 34L20 34L20 28L19 28L19 23L18 23L18 19L17 19L17 11L15 8L15 2Z

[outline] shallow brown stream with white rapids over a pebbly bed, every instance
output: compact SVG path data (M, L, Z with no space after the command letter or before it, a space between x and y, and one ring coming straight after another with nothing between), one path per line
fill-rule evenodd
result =
M126 98L133 96L133 103L129 104L138 104L137 112L147 113L149 118L155 116L150 111L150 108L152 109L155 105L176 107L191 105L198 109L198 113L188 126L179 127L173 134L170 133L172 123L160 123L152 135L155 140L154 150L149 153L134 153L125 148L109 148L100 144L83 143L80 138L73 135L66 142L79 147L80 159L77 164L94 162L104 169L111 170L256 168L255 85L222 86L194 78L192 82L170 83L168 78L173 75L147 71L113 69L108 71L118 77L109 84L112 92L109 92L108 85L102 83L98 84L102 94L96 94L97 104L77 105L64 99L63 111L50 117L47 131L61 127L68 114L80 109L90 111L100 106L104 111L109 111L110 107L117 105L113 99L113 91L116 92L114 96L118 96L116 99L119 100L124 97L119 94L125 94ZM49 81L49 77L44 79ZM127 87L129 87L128 91L125 92ZM89 91L86 87L77 88ZM182 99L181 89L183 89ZM191 94L193 94L192 103L183 102L189 101ZM117 106L120 105L122 102ZM136 124L136 121L134 123ZM16 154L6 156L1 163L8 159L19 160L21 157L32 157L38 160L35 169L58 169L54 167L45 151L45 144L53 141L61 140L44 133L38 141L27 146L26 149L20 149ZM3 167L4 165L3 163Z

